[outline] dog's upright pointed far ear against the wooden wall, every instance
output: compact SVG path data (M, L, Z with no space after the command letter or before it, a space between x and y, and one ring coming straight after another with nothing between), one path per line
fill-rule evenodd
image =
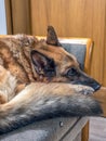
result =
M61 46L53 26L48 26L47 43L51 46Z

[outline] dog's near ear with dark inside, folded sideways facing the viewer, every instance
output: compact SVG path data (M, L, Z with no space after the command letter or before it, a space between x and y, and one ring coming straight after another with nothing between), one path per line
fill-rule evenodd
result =
M39 75L42 75L49 78L54 77L56 75L55 63L53 59L50 59L43 55L42 53L36 50L32 50L31 60L32 60L35 69Z

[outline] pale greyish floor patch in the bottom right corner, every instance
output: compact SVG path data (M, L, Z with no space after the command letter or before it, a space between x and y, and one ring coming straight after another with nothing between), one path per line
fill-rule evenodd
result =
M89 141L106 141L106 118L90 118L90 139Z

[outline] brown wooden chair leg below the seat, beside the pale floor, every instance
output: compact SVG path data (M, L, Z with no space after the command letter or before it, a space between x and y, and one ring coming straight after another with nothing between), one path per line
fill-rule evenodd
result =
M89 121L82 129L81 141L89 141Z

